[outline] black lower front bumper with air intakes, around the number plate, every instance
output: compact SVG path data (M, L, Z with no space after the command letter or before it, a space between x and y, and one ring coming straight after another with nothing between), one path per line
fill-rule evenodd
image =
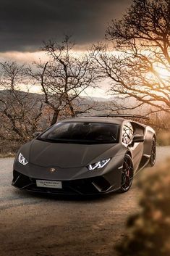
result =
M27 191L47 193L47 194L107 194L111 191L119 189L116 184L111 184L104 176L92 178L76 179L71 181L61 181L62 189L39 187L36 185L36 178L31 178L19 173L17 170L13 172L12 186L17 189Z

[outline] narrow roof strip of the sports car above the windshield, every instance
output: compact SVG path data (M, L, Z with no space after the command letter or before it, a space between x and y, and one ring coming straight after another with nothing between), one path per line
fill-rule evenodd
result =
M87 122L87 123L113 123L113 124L118 124L122 125L124 122L124 119L122 117L73 117L73 118L68 118L64 120L59 120L59 122L62 123L73 123L73 122ZM127 120L130 121L130 120Z

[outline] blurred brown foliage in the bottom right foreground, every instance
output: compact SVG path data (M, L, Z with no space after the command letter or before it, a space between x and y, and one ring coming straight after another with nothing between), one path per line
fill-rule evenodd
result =
M148 169L148 172L151 169ZM170 255L170 159L140 180L140 211L127 220L120 256Z

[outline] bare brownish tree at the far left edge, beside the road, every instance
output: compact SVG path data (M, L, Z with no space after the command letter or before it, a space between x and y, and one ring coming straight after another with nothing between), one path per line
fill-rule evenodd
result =
M1 136L26 141L38 128L43 102L29 91L20 91L28 83L27 68L16 62L0 63Z

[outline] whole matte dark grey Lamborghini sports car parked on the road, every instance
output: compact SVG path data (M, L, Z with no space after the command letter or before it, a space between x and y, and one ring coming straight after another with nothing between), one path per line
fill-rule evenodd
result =
M135 117L142 118L75 117L35 133L17 153L12 185L54 194L128 191L134 175L156 162L156 133Z

